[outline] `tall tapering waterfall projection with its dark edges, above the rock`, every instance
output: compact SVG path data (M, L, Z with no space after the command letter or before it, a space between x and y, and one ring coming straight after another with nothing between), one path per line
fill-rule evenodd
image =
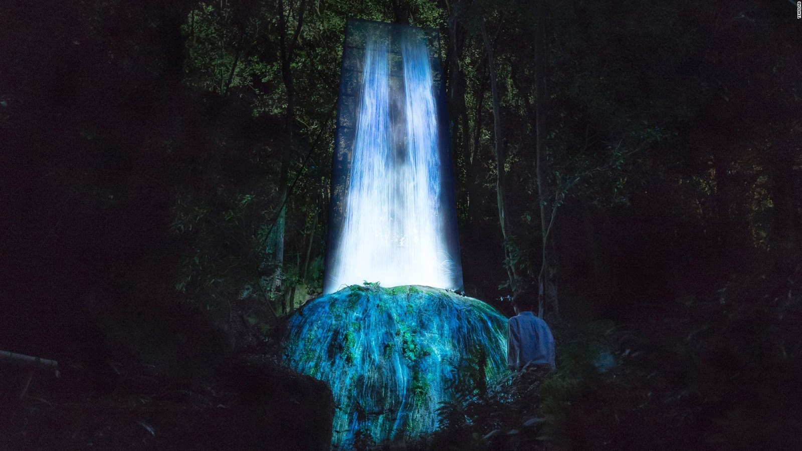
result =
M350 22L326 293L363 281L462 287L442 83L429 45L411 26Z

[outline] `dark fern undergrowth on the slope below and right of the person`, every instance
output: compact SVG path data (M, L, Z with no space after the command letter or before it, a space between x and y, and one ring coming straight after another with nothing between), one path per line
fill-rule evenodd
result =
M484 389L467 364L442 429L416 446L802 449L798 276L732 278L638 323L552 319L556 371Z

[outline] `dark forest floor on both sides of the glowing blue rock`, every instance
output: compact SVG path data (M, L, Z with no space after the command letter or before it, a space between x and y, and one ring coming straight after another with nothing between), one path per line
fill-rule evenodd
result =
M802 449L800 300L793 279L755 276L645 305L638 322L551 319L556 371L455 387L442 428L403 447ZM0 449L311 449L329 440L328 388L273 357L231 357L196 379L111 357L59 362L58 379L35 374L22 404L2 409Z

